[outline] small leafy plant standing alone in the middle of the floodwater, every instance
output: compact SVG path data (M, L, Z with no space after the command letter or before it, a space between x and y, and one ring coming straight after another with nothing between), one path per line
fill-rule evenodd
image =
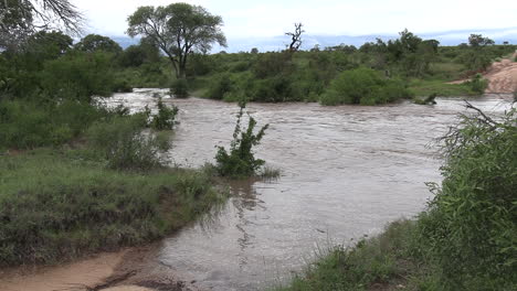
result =
M241 110L238 115L230 151L228 152L223 147L218 147L218 153L215 154L217 170L222 176L242 177L255 175L257 170L265 163L261 159L255 159L253 147L260 143L270 125L263 126L255 134L253 131L256 120L250 116L247 129L242 129L241 121L245 104L241 103L240 107Z

